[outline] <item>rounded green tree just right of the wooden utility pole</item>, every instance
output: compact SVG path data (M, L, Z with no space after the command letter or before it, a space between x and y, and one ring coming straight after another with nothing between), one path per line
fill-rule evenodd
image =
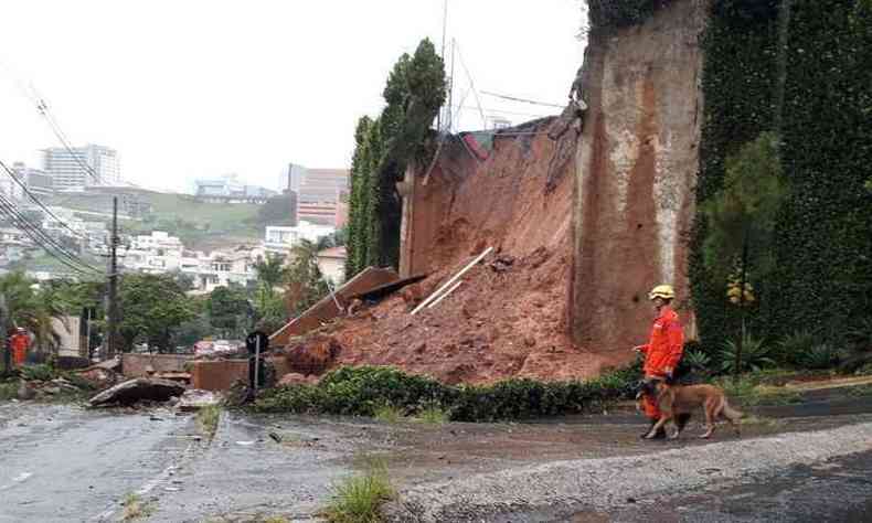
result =
M195 316L184 289L169 275L124 275L118 298L118 330L126 351L146 342L158 352L170 352L177 329Z

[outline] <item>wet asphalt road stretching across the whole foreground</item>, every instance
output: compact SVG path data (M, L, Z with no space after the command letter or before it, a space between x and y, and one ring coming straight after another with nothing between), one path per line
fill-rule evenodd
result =
M512 477L565 460L579 467L594 463L592 470L603 463L608 471L608 459L637 463L634 457L650 452L684 456L678 467L663 458L662 469L670 484L688 488L645 487L660 481L659 469L597 472L607 484L592 483L591 492L578 490L581 483L575 490L568 485L570 498L577 501L574 508L564 505L550 513L538 504L508 519L482 514L475 521L872 521L872 474L868 473L872 451L850 455L837 446L827 451L829 458L815 459L808 456L827 449L797 447L800 465L785 461L748 474L722 474L729 467L721 465L722 472L711 477L700 479L696 473L719 453L737 451L737 446L758 438L793 445L805 435L820 434L816 441L826 442L826 435L840 428L844 438L853 427L872 421L864 414L870 412L869 398L810 402L758 412L766 417L745 427L741 439L723 431L712 441L699 440L692 436L700 428L693 426L682 441L653 444L638 439L641 421L627 414L545 424L426 426L225 412L215 438L208 441L192 416L169 409L88 410L0 403L0 523L118 521L128 494L147 504L145 521L241 522L270 515L311 521L331 485L353 472L362 455L386 461L403 499L429 485L445 485L450 492L458 482L475 485L479 474ZM736 462L755 465L754 448L748 447L751 455L741 453ZM687 477L693 481L682 479L685 462ZM621 495L585 506L584 499L600 490ZM650 495L627 500L625 490L642 494L648 490ZM435 503L447 501L448 494L434 492ZM513 489L504 492L511 495Z

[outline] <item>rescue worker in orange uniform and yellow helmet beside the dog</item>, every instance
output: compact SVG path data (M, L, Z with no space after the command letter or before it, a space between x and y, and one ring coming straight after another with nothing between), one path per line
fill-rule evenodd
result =
M678 314L672 310L672 300L676 299L676 291L670 285L658 285L648 293L648 299L653 302L657 310L657 318L651 327L651 335L645 345L634 348L635 351L645 354L645 382L647 384L656 381L670 381L672 374L681 361L684 350L684 331L679 322ZM656 398L648 393L644 393L642 407L645 416L651 421L651 426L660 417L660 409L657 407ZM677 420L680 421L680 420ZM687 423L687 419L683 419ZM683 425L682 423L682 425ZM650 430L650 427L649 427ZM645 434L648 434L646 430ZM660 429L656 438L666 437L666 430Z

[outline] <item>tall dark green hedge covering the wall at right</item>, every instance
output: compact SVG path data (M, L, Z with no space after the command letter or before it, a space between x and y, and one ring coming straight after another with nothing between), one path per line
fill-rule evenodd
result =
M777 268L754 282L759 300L748 317L758 337L813 329L838 343L872 313L871 12L870 0L712 7L696 203L720 189L726 157L764 131L780 134L791 186L772 246ZM717 344L735 335L737 314L703 266L705 234L698 213L691 292L703 343Z

